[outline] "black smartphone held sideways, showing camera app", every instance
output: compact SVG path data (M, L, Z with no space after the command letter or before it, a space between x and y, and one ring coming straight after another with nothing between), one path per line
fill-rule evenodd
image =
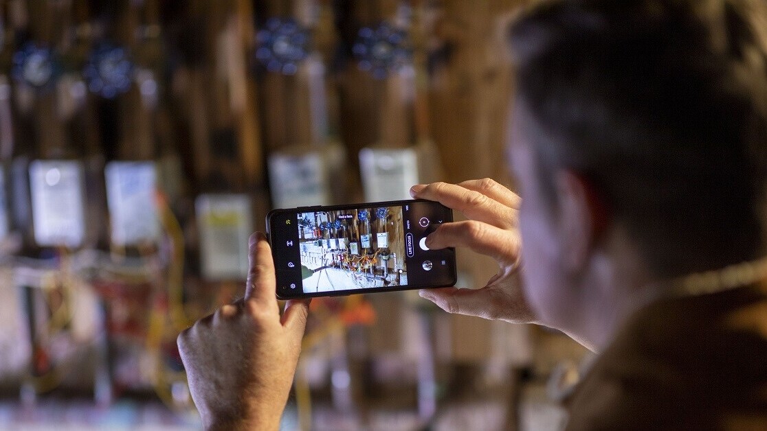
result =
M298 207L266 216L279 299L447 287L456 250L430 250L426 235L453 221L433 201Z

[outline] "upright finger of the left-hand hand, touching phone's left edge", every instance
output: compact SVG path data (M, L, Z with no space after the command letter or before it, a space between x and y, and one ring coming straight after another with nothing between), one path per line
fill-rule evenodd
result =
M261 305L277 305L277 278L272 247L261 232L253 233L249 240L248 282L245 285L245 299L255 300Z

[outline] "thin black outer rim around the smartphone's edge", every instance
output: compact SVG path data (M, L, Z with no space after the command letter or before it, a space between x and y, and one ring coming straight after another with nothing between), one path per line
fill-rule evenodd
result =
M341 205L312 205L308 207L295 207L295 208L277 208L272 211L269 211L266 214L266 234L269 241L269 246L272 248L272 258L275 258L275 247L274 243L272 241L272 217L274 217L277 214L285 214L285 213L296 213L299 212L308 212L308 211L338 211L338 210L347 210L347 209L354 209L359 207L393 207L393 206L404 206L407 204L413 204L414 202L418 203L427 203L427 204L433 204L433 205L440 205L444 208L446 208L448 211L446 211L446 218L443 223L451 223L453 222L453 210L449 207L446 207L443 204L440 204L436 201L427 201L425 199L406 199L402 201L381 201L381 202L362 202L358 204L341 204ZM380 288L361 288L361 289L348 289L348 290L339 290L339 291L330 291L330 292L309 292L305 293L303 290L301 290L300 294L297 295L281 295L280 289L276 289L277 298L281 300L288 300L288 299L304 299L304 298L321 298L321 297L328 297L328 296L348 296L348 295L359 295L362 293L379 293L379 292L401 292L404 290L416 290L416 289L436 289L440 287L451 287L456 286L456 282L458 282L458 268L456 263L456 250L453 247L448 247L445 250L451 250L452 253L449 257L449 268L452 269L452 273L449 275L452 276L452 279L443 284L434 285L434 286L391 286L391 287L380 287ZM277 277L277 274L275 273L275 279Z

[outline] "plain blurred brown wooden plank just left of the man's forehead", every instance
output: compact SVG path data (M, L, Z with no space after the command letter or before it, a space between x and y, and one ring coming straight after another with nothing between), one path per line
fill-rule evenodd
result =
M521 2L445 0L434 24L432 136L449 181L492 176L505 161L512 68L505 28Z

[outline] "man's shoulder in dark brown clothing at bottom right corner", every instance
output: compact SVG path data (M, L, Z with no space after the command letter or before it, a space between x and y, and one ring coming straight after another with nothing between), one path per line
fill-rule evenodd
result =
M767 429L765 364L767 295L658 302L627 322L584 377L569 428Z

